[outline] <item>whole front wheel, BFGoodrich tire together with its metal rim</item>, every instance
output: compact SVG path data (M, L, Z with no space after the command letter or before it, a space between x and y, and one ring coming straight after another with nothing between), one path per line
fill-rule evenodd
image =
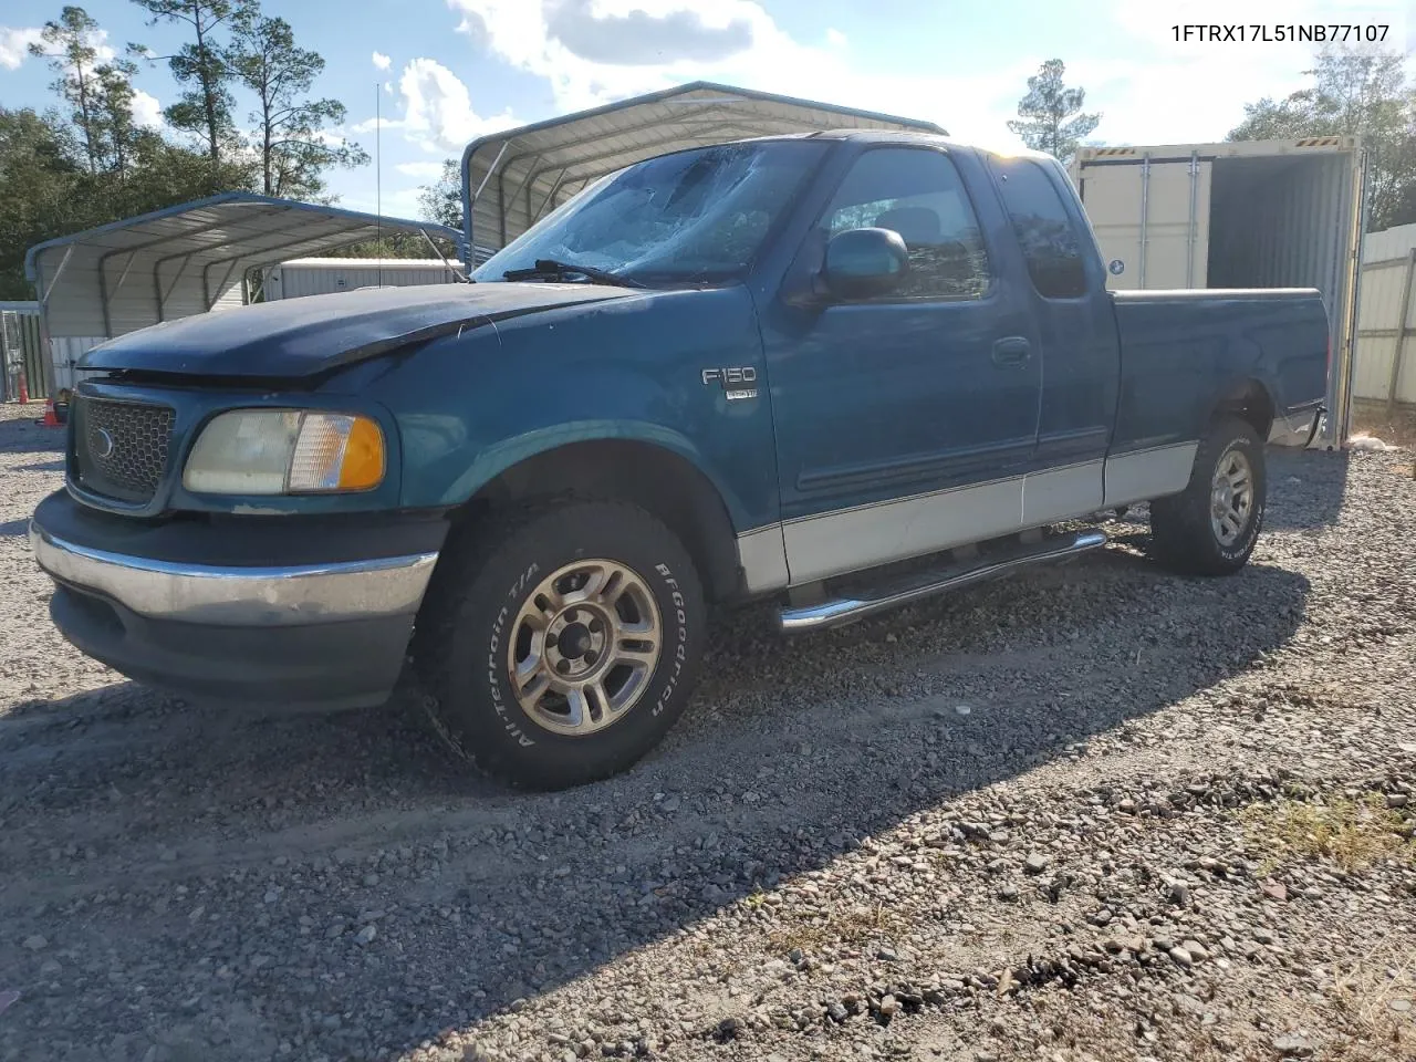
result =
M493 517L455 542L429 593L415 640L428 714L460 756L510 784L607 777L678 719L705 615L687 551L636 506Z

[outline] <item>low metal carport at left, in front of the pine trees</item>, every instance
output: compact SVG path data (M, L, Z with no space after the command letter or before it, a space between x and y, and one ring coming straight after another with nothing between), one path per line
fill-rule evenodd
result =
M253 270L388 232L440 236L462 251L462 234L446 225L245 191L38 244L24 266L38 292L51 384L71 387L78 358L106 338L249 302Z

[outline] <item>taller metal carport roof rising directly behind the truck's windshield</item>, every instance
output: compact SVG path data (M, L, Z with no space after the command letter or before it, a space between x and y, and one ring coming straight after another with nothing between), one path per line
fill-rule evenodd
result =
M656 154L830 129L944 135L933 122L694 81L473 140L462 153L466 242L481 263L592 181Z

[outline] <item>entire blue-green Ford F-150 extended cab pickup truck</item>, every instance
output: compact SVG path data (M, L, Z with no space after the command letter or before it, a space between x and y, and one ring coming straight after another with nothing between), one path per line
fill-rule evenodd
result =
M1114 266L1113 266L1114 268ZM513 783L683 712L709 609L786 632L1106 542L1249 559L1317 423L1315 290L1106 289L1049 156L927 135L636 163L470 283L224 310L85 358L34 513L51 615L193 698L385 701Z

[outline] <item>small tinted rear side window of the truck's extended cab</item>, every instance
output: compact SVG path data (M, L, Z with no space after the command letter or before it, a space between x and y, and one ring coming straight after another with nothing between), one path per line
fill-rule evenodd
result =
M1056 185L1028 159L994 159L991 164L1038 295L1044 299L1086 295L1082 235L1068 217Z

